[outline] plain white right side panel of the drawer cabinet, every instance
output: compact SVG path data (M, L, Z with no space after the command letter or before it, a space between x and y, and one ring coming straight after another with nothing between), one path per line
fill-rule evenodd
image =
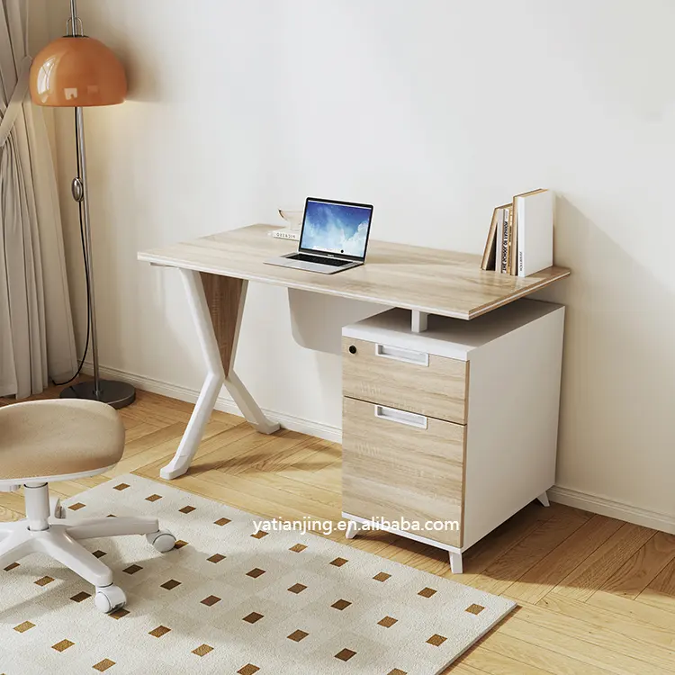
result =
M564 308L471 353L463 549L555 482Z

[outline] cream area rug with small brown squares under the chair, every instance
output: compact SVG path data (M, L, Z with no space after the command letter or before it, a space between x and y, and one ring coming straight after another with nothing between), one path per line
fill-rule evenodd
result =
M4 675L434 675L515 607L320 536L252 536L257 517L130 474L66 504L156 515L183 545L85 542L127 593L115 616L41 555L0 570Z

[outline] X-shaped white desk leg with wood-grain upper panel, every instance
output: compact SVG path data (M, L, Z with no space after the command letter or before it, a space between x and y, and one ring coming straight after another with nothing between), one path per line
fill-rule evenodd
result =
M159 472L166 480L182 475L190 467L223 384L257 431L272 434L279 428L278 424L266 418L234 372L247 282L187 269L181 269L180 273L208 371L174 458Z

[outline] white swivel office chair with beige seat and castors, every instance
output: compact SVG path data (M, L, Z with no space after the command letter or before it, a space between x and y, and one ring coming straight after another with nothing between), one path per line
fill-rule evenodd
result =
M0 570L31 553L48 554L94 584L96 608L108 613L126 603L112 571L78 542L101 536L145 535L160 553L175 536L156 518L66 518L49 482L103 473L121 459L124 426L98 401L30 401L0 408L0 491L23 485L26 518L0 523Z

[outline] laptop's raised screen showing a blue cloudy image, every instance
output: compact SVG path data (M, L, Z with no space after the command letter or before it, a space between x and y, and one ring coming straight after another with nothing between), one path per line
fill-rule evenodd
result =
M373 207L309 198L305 204L300 250L364 260Z

